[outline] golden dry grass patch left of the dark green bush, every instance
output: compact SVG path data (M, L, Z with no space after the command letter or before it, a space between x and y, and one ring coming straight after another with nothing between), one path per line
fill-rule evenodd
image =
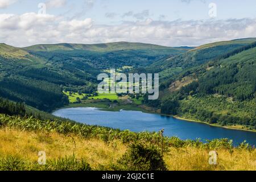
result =
M92 168L97 168L100 164L105 166L114 162L125 150L126 147L118 141L105 144L101 140L65 137L56 133L0 130L0 158L11 155L36 162L39 151L45 151L47 159L75 154L76 158L86 159Z

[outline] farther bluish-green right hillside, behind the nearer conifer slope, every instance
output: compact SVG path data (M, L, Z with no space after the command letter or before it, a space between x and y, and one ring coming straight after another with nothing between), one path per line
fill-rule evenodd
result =
M198 67L255 41L255 38L250 38L205 44L180 55L156 61L148 66L147 70L148 72L159 72L162 80L168 80L170 77L175 77L190 68Z

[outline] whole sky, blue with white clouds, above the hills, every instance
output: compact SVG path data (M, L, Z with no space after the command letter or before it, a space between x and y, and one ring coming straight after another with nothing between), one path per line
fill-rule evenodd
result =
M142 42L256 37L255 0L0 0L0 43Z

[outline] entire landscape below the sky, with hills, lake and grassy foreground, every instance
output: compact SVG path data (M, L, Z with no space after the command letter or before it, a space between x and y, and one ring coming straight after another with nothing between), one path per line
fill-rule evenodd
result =
M255 38L199 47L0 44L0 169L151 170L129 153L143 150L160 170L253 170L255 53ZM159 73L159 98L99 93L97 75L110 69ZM86 113L92 107L100 110ZM36 164L39 150L51 152L48 166ZM208 164L210 150L217 166Z

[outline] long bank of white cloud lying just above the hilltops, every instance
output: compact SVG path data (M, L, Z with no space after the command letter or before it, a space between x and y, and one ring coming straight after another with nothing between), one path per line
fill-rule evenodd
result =
M256 19L156 21L150 18L115 25L92 19L65 20L55 15L0 14L0 42L12 46L40 43L143 42L198 46L209 42L256 37Z

